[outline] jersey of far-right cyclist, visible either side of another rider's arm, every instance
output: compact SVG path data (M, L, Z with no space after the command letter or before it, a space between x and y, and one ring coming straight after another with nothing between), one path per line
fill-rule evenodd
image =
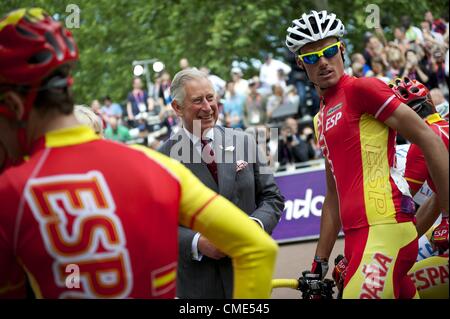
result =
M425 119L425 122L442 139L448 150L448 122L439 113L429 115ZM408 155L406 156L405 178L408 181L409 187L416 192L427 181L430 188L436 193L436 188L428 172L425 156L415 144L411 144Z

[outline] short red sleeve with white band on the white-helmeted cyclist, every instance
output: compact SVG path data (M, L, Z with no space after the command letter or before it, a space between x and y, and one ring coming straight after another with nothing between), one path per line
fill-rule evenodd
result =
M377 78L361 78L355 81L355 94L360 103L355 107L384 122L401 104L389 86Z

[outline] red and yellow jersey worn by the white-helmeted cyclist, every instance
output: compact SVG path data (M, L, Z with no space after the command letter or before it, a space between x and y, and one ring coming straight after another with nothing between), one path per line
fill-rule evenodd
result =
M315 128L339 195L344 232L411 221L414 203L396 172L396 133L383 123L400 105L376 78L342 76L327 89Z

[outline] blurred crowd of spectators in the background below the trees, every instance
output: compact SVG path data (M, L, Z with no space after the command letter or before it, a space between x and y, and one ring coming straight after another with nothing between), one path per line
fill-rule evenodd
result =
M449 94L448 14L435 18L427 11L417 26L409 16L403 16L401 25L391 30L386 34L382 29L366 33L364 51L346 58L346 72L355 77L377 77L386 83L404 76L417 79L431 90L437 110L445 116ZM217 124L267 132L266 153L278 171L307 166L321 157L313 131L319 97L295 57L286 55L283 60L267 54L259 74L251 78L245 78L237 66L231 68L227 79L211 73L206 66L199 67L209 75L217 92ZM190 67L188 59L179 61L179 70ZM141 78L134 78L121 104L108 96L92 101L91 108L105 127L105 138L156 149L180 129L171 107L171 74L162 71L153 82L147 88ZM270 139L271 129L278 130L275 139L273 135ZM406 141L400 137L398 142Z

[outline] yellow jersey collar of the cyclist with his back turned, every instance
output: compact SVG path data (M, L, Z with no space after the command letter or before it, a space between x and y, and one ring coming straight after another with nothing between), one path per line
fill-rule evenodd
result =
M31 153L35 153L43 148L77 145L98 139L100 137L88 126L72 126L48 132L43 137L37 139L31 146Z

